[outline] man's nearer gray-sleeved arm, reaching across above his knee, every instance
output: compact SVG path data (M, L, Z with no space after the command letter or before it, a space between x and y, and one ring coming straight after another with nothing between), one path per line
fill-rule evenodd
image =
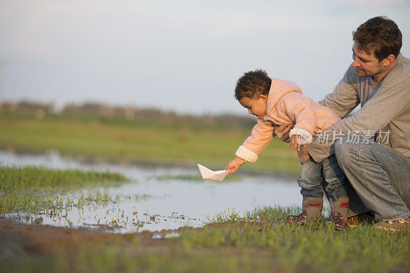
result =
M380 129L396 118L410 103L410 77L387 74L373 98L352 117L342 119L315 136L316 142L306 145L316 162L334 153L335 137L356 133L361 138L372 138ZM327 138L326 138L327 136ZM320 142L323 143L320 143Z

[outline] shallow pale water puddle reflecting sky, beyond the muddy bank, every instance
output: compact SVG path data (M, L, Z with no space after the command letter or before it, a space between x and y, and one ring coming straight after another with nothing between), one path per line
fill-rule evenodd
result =
M199 171L196 168L85 165L75 160L66 160L56 152L44 155L17 155L0 151L0 164L35 165L56 169L110 170L130 178L130 183L119 187L94 187L61 194L61 197L70 197L75 201L81 193L86 195L107 191L110 195L118 195L117 201L85 205L84 210L70 207L63 210L60 215L6 215L19 216L22 221L40 221L43 224L56 226L96 227L97 224L109 224L115 227L114 232L119 233L173 230L185 225L202 226L203 222L208 221L207 215L212 218L217 213L228 212L228 209L230 212L234 209L243 216L244 211L251 211L258 206L301 206L300 188L296 179L290 181L274 176L255 175L241 175L235 181L222 183L198 180L194 177L175 179L182 175L195 176Z

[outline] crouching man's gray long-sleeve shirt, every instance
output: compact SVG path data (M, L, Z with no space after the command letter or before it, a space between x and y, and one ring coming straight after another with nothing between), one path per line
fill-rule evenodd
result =
M334 153L333 143L338 137L356 134L373 139L379 130L381 144L410 157L410 60L401 53L392 70L377 83L372 83L371 77L358 76L350 65L333 93L319 103L334 110L342 120L306 145L316 162ZM359 103L357 113L344 118Z

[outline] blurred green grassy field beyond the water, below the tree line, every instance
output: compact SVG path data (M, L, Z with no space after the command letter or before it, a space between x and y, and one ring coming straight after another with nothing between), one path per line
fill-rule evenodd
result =
M249 122L247 123L249 124ZM222 169L233 159L252 125L229 126L187 121L126 121L100 117L0 114L0 146L45 151L55 149L78 158L111 158L118 161L194 166L196 163ZM248 172L264 171L296 175L296 153L275 139L257 163L246 164Z

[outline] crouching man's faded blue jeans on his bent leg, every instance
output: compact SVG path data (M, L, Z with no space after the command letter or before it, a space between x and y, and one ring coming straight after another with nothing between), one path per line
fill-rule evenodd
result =
M339 166L354 189L348 196L359 196L376 221L410 216L409 158L372 140L357 138L352 143L347 135L335 141L334 149ZM348 216L365 210L360 205L351 208L350 204L352 211Z

